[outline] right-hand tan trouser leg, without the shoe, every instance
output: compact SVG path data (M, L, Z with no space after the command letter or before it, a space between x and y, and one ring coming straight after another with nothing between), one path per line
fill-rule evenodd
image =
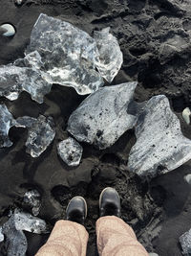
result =
M96 239L100 256L148 256L133 229L116 216L96 221Z

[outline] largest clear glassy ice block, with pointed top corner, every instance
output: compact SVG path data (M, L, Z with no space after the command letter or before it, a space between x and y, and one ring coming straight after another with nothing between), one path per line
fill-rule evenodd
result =
M41 13L27 53L37 51L54 83L90 94L103 85L96 72L96 41L72 24Z

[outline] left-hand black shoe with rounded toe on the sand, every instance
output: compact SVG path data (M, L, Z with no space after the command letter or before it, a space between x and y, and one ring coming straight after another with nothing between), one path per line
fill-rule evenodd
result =
M87 203L82 197L74 197L66 208L66 219L79 224L84 224L87 217Z

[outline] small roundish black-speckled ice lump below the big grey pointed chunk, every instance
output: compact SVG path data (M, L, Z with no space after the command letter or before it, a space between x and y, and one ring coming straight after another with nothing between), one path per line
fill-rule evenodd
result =
M59 156L69 166L79 165L82 151L83 148L72 137L57 144L57 152Z

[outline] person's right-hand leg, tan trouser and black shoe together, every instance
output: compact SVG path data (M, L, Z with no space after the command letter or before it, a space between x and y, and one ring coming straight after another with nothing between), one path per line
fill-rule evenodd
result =
M100 218L96 221L97 249L100 256L148 256L133 229L120 217L117 191L106 188L99 199Z

